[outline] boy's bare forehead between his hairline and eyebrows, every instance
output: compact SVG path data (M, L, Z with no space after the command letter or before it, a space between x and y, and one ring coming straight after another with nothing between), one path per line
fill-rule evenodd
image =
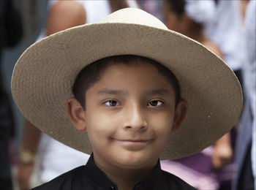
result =
M130 64L113 63L105 69L95 86L99 88L133 88L143 91L148 88L173 88L153 64L137 60Z

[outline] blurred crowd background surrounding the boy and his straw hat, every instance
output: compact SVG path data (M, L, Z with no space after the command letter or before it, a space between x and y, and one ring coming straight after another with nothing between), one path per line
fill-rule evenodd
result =
M143 9L208 47L233 69L243 88L244 110L233 129L194 156L162 161L162 169L197 189L256 189L255 0L1 0L0 189L31 189L89 158L23 118L10 90L15 62L38 39L99 22L125 7Z

